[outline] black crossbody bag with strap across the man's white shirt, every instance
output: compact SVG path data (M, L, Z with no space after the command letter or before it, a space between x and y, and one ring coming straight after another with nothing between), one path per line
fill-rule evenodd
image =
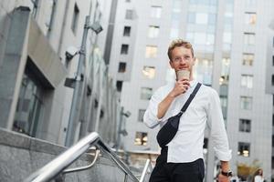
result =
M185 112L187 107L190 105L192 99L195 97L195 95L198 92L201 85L202 84L198 83L195 86L195 90L188 97L188 99L185 102L184 106L182 107L181 111L177 115L169 117L166 124L158 132L157 142L160 147L165 147L176 135L176 133L178 131L178 126L180 123L180 117L183 115L183 113Z

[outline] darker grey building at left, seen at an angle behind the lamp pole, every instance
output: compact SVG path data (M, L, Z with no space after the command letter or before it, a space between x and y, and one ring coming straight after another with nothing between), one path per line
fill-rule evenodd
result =
M120 107L100 33L110 8L98 0L0 2L1 127L59 145L95 130L115 142Z

